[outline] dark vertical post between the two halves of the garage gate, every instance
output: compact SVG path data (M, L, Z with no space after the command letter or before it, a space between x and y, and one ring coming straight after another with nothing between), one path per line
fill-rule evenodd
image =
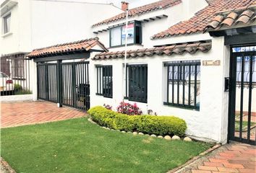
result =
M61 60L57 61L57 68L56 68L56 79L57 79L57 105L58 107L62 107L62 75L61 75Z

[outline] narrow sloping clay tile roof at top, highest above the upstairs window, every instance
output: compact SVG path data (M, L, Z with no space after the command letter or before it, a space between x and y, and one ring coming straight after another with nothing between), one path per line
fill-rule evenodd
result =
M162 0L162 1L156 1L151 4L147 4L144 6L139 6L134 9L129 9L128 17L135 17L136 15L145 14L148 12L156 11L158 9L167 9L168 7L175 6L176 4L180 4L182 0ZM121 14L118 14L114 17L111 17L109 19L105 19L101 22L98 22L93 25L93 27L96 27L98 25L108 24L110 22L115 22L121 19L125 19L126 13L123 12Z

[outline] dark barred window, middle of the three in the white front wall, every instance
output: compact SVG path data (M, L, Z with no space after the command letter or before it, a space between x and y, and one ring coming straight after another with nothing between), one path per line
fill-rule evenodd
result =
M125 99L148 102L148 65L127 65L126 79Z

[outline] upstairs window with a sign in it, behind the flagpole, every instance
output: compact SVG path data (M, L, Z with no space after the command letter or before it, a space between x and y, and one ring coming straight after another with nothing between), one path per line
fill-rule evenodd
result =
M110 47L125 45L126 25L110 29ZM133 22L127 25L127 44L141 44L142 30L140 22Z

